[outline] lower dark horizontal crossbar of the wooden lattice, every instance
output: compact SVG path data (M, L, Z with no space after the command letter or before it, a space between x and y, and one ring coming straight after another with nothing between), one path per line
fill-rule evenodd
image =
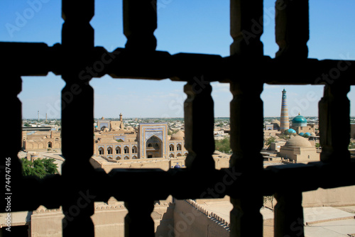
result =
M354 172L355 159L337 165L323 162L311 162L307 165L277 165L261 172L261 179L266 181L261 187L265 196L272 195L278 190L307 192L318 187L343 187L355 185ZM170 194L177 199L238 196L248 192L250 189L248 184L255 180L255 177L236 171L234 168L208 173L185 169L172 169L166 172L159 169L114 169L108 175L103 170L95 170L92 175L87 177L92 180L87 192L95 197L95 201L101 202L106 202L111 196L125 201L133 199L142 192L147 198L154 200L166 199ZM213 180L208 177L213 177ZM121 182L122 180L124 182ZM267 182L268 180L273 182ZM275 180L278 181L274 182ZM153 185L155 182L159 182L160 186ZM117 188L113 189L112 184L117 184ZM25 177L20 182L18 190L21 190L21 194L16 194L16 197L26 195L33 200L31 204L23 204L21 198L13 200L13 208L16 211L23 211L36 209L39 205L45 205L49 209L58 208L67 189L65 180L60 175L50 175L43 180ZM187 193L186 190L190 192ZM223 192L220 192L221 190Z

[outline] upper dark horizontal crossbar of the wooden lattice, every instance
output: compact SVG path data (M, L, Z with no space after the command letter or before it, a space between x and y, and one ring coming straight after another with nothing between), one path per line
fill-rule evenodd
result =
M44 43L0 43L2 55L6 56L6 66L15 67L18 75L36 76L54 72L62 73L62 45L48 47ZM133 63L134 62L134 63ZM156 67L159 70L156 70ZM234 67L235 70L230 69ZM107 52L96 47L92 59L82 67L80 77L102 77L132 79L166 79L187 81L191 77L208 75L209 81L231 82L244 79L258 68L263 77L258 82L269 84L342 84L355 85L354 60L279 60L263 56L258 60L243 57L221 57L153 51L150 54L131 53L119 48ZM235 75L234 75L235 73Z

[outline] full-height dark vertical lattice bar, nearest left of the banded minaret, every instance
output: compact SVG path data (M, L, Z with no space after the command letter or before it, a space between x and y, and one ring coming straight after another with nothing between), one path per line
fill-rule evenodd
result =
M231 55L253 57L263 56L263 1L231 0ZM263 217L260 209L263 205L260 177L263 170L263 101L260 94L263 84L258 83L258 72L250 72L232 78L231 93L231 156L230 165L242 175L244 189L239 195L231 194L231 236L263 236ZM246 126L251 124L252 126ZM249 140L257 140L256 144ZM257 147L257 148L256 148ZM247 186L253 187L246 189Z

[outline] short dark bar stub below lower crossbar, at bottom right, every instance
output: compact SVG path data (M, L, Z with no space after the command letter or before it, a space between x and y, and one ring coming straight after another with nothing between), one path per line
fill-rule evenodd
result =
M275 237L305 236L303 228L302 192L276 192Z

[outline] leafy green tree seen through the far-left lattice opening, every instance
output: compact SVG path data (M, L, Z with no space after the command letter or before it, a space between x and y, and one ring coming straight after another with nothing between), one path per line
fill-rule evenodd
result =
M55 159L53 158L45 158L33 160L32 162L31 160L22 158L22 175L33 175L42 179L45 175L57 174L58 167L54 161Z

